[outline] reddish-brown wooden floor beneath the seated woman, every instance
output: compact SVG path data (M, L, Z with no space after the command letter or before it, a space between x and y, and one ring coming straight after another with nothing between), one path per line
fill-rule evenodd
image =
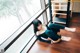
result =
M29 53L80 53L80 15L74 14L70 27L77 28L75 33L62 31L62 35L72 39L57 44L47 44L37 41Z

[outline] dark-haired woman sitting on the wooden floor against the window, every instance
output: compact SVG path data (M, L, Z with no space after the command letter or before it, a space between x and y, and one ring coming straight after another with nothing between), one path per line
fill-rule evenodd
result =
M71 32L75 32L76 30L76 28L68 28L53 23L46 27L42 25L42 22L40 20L37 19L33 21L33 26L34 32L37 35L38 40L47 43L58 43L61 40L65 40L65 37L60 36L58 34L60 32L60 29L64 29Z

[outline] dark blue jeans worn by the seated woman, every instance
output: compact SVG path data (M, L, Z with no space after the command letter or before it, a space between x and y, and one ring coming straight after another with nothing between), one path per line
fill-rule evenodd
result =
M61 36L58 35L57 32L60 32L60 29L64 29L65 27L58 24L50 24L48 28L49 29L45 31L45 34L52 40L56 41L61 38Z

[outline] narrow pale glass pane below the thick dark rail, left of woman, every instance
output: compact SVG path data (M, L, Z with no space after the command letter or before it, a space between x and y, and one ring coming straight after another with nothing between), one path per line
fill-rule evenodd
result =
M24 46L33 37L34 31L31 25L8 49L5 53L20 53ZM14 49L14 50L13 50ZM26 53L26 52L25 52Z

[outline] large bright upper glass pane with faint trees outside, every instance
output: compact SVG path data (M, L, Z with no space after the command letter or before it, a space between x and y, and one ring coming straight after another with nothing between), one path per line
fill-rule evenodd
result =
M40 9L40 0L0 0L0 44Z

